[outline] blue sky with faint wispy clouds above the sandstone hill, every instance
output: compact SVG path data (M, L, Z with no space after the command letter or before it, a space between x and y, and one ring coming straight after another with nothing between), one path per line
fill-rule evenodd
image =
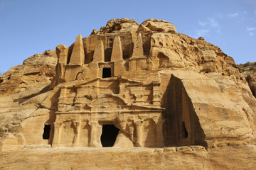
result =
M256 0L0 0L0 72L69 46L112 18L163 19L178 33L203 36L237 64L256 62Z

